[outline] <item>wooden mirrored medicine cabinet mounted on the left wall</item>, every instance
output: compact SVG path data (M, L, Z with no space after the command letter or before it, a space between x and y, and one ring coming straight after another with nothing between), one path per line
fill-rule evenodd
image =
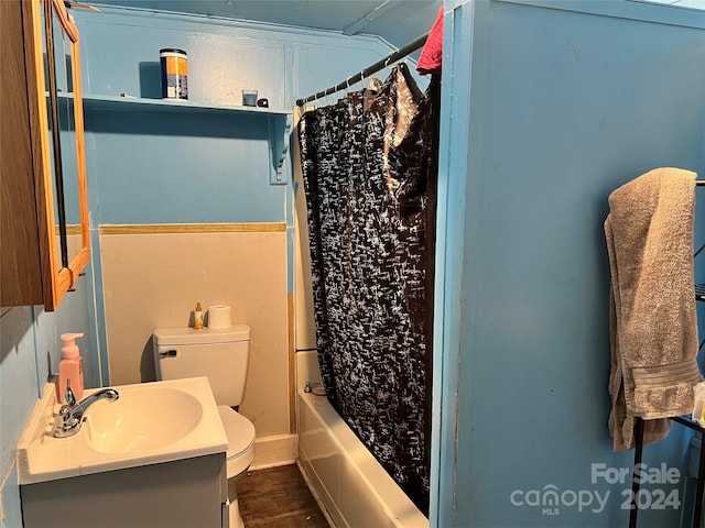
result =
M63 1L2 0L0 38L0 306L53 311L90 258L78 31Z

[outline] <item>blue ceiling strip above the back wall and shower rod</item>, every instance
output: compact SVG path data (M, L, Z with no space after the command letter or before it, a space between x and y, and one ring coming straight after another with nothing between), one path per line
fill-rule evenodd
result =
M431 30L443 0L98 0L95 4L366 33L401 47Z

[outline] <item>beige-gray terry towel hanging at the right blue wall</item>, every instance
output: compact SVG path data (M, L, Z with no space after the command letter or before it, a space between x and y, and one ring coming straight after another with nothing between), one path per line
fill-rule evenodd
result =
M702 381L693 272L695 173L657 168L609 196L605 235L611 272L609 429L615 451L669 433L668 417L693 410Z

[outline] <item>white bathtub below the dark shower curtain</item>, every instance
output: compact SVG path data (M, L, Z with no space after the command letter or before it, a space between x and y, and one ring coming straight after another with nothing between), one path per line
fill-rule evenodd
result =
M429 519L325 396L299 392L299 465L337 528L427 528Z

